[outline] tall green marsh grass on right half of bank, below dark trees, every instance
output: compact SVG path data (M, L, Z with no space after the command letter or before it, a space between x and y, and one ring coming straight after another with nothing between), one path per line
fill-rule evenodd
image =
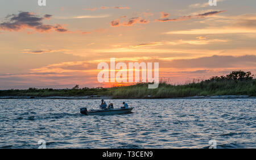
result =
M187 85L170 85L166 82L160 82L157 89L148 89L148 83L139 83L133 86L114 87L109 90L109 95L114 98L178 98L207 95L256 96L256 79L249 81L202 81Z

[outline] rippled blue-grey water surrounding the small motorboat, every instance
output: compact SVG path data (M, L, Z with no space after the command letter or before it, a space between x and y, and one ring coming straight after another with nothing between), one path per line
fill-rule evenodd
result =
M133 113L85 116L100 100L1 99L0 148L256 148L256 99L125 102Z

